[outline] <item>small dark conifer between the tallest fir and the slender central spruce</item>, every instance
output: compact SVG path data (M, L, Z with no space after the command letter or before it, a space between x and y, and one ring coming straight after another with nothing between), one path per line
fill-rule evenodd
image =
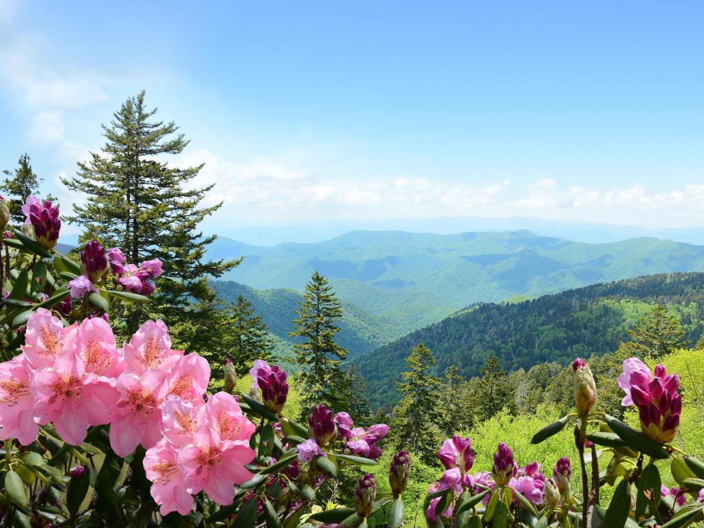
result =
M251 303L243 296L237 296L237 301L230 307L232 315L227 325L227 348L237 374L243 375L254 360L271 360L274 340L267 332L262 316L255 315Z

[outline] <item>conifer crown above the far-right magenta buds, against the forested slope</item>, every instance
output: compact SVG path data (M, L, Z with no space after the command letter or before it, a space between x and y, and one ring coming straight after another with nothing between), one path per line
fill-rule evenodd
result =
M658 359L678 348L686 348L691 341L684 339L684 329L667 308L656 304L638 324L628 330L630 341L622 342L618 351L622 356Z

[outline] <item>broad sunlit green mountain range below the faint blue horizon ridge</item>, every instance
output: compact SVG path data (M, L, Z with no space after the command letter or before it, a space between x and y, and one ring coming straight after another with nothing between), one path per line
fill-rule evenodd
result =
M659 272L704 271L704 247L639 238L586 244L528 231L422 234L354 231L272 247L220 238L208 258L246 256L227 274L257 289L302 291L313 270L339 298L402 330L476 302L543 294Z

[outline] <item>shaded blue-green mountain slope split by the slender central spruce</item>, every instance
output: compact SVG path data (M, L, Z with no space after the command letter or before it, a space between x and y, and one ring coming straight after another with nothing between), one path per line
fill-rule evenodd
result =
M262 315L269 332L275 338L277 355L284 360L292 358L295 310L303 296L292 289L258 290L232 281L213 281L213 287L225 302L234 301L238 295L249 301L256 313ZM349 358L368 353L383 344L401 337L406 332L389 320L372 315L358 306L342 302L343 317L339 321L337 342L350 351Z

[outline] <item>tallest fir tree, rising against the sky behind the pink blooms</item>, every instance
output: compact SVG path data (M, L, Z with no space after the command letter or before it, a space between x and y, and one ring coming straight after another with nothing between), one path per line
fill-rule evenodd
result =
M205 258L217 237L203 236L198 226L222 202L201 206L213 184L189 186L203 164L177 168L162 161L182 153L189 142L174 122L153 120L156 111L146 108L140 92L122 103L110 125L103 125L102 152L79 163L77 175L62 179L69 189L87 194L67 219L83 228L81 241L96 238L118 246L132 263L160 259L164 274L148 308L151 315L165 320L178 346L218 349L217 335L200 332L205 341L196 341L190 337L192 327L207 327L218 314L206 277L220 277L239 260ZM143 317L127 313L125 319L127 332L134 332Z

